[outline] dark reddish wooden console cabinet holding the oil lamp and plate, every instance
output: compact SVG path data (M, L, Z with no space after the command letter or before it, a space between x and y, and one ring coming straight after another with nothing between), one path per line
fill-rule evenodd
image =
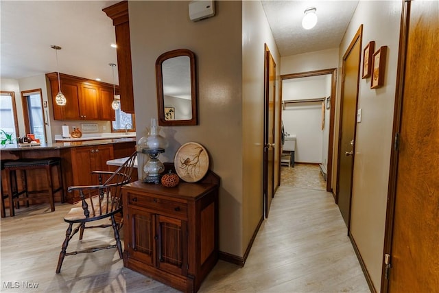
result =
M218 259L219 177L163 187L123 187L123 264L183 292L197 292Z

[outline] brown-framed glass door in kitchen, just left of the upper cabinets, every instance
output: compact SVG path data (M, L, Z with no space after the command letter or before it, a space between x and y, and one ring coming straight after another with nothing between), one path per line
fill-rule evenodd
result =
M35 139L39 139L41 142L47 142L41 89L22 91L21 100L23 103L25 133L32 133Z

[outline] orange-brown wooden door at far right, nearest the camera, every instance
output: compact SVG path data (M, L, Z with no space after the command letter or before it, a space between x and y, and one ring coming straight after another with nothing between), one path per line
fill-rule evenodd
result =
M402 27L396 194L385 248L391 269L382 285L383 292L439 292L439 2L405 1Z

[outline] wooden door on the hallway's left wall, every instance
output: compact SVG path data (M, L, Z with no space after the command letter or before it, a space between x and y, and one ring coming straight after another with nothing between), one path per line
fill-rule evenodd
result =
M274 93L276 92L276 63L265 45L265 106L264 106L264 148L263 148L263 197L264 214L268 211L274 196Z

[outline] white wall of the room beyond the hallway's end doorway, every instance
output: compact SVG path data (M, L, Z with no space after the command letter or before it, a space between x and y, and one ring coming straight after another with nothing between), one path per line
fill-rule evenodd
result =
M329 89L328 81L329 80ZM331 75L292 78L282 81L282 100L326 98L331 95ZM325 106L322 129L322 102L285 104L282 120L285 132L296 135L295 161L327 162L329 110ZM324 145L326 143L326 145ZM324 152L324 150L326 150Z

